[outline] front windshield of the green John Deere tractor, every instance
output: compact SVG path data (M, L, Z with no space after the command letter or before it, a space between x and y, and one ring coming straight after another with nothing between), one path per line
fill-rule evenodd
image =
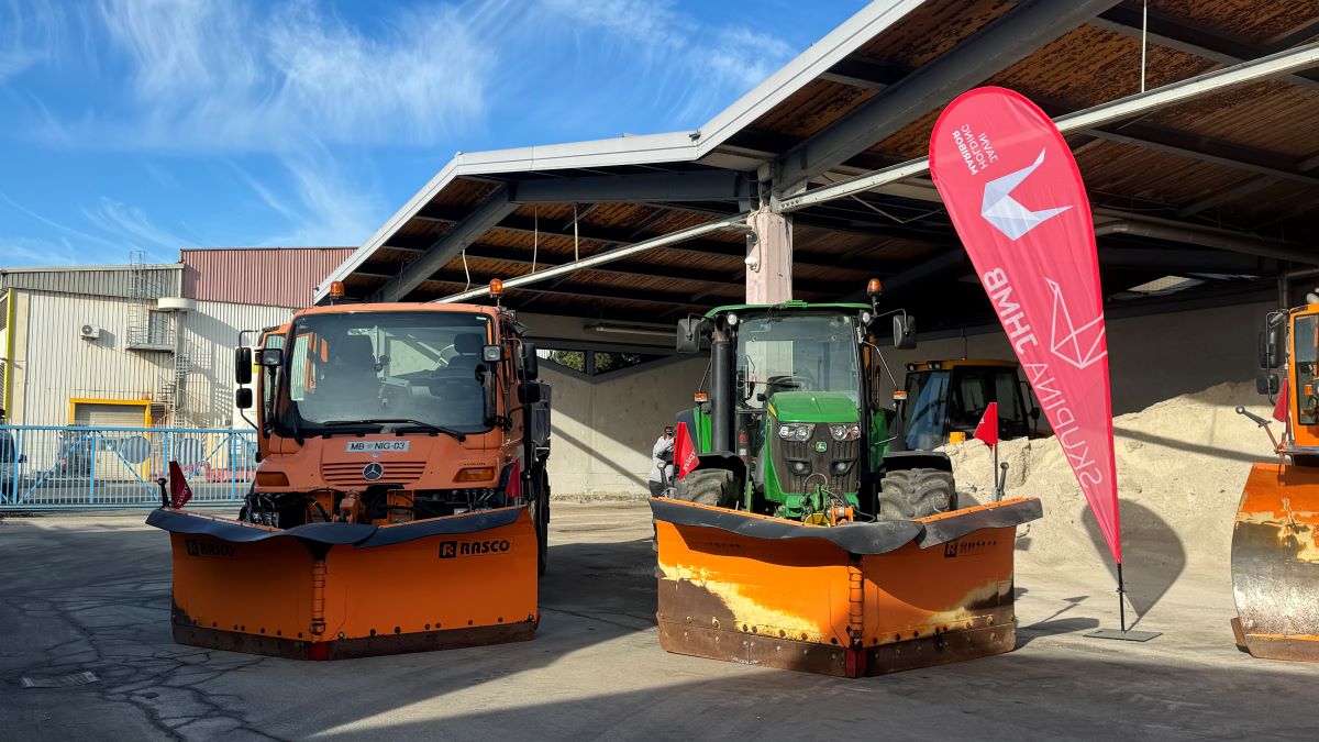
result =
M760 409L780 391L839 392L860 404L856 330L845 314L744 318L737 329L737 376L747 380L743 408Z

